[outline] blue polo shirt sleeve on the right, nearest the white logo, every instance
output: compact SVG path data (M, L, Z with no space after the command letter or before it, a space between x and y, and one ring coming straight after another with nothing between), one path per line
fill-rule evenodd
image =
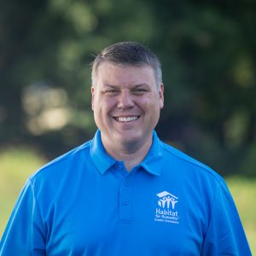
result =
M219 183L201 255L252 255L245 232L224 180Z

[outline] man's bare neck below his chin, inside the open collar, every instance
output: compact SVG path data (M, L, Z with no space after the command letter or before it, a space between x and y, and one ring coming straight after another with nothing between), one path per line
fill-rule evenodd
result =
M109 155L116 160L124 161L125 168L128 172L138 164L140 164L148 154L148 150L152 144L152 137L143 145L137 145L136 143L131 144L119 144L119 147L112 145L102 138L102 143Z

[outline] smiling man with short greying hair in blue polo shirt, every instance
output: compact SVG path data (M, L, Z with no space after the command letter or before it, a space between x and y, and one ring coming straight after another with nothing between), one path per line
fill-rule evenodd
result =
M160 62L113 44L92 67L98 131L30 177L1 255L251 255L222 177L157 137Z

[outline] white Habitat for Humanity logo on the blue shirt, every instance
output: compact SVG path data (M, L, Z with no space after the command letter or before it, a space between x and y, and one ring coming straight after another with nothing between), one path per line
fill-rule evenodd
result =
M163 191L157 194L158 199L158 207L155 208L155 217L154 221L157 222L166 222L172 224L178 224L178 214L175 209L177 204L177 196L172 195L167 191Z

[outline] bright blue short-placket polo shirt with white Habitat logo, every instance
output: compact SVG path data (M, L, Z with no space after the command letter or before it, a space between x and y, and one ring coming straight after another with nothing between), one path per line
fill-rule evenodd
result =
M131 172L101 133L30 177L0 255L251 255L222 177L162 143Z

